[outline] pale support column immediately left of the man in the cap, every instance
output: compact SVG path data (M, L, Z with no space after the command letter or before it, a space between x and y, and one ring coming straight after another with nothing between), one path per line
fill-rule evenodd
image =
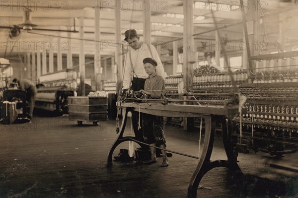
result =
M116 0L117 5L120 5L120 0ZM121 43L123 38L121 39L121 14L120 10L115 10L115 20L116 20L116 41L118 41L118 44ZM117 64L117 93L119 95L119 91L122 89L122 72L123 72L123 60L122 60L122 51L118 50L115 53L115 61Z

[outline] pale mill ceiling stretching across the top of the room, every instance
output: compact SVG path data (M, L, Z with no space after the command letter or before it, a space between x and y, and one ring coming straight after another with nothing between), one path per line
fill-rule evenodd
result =
M215 3L227 3L230 5L235 3L239 5L239 0L226 1L226 0L211 0ZM245 0L244 0L245 1ZM142 0L139 1L121 1L120 5L117 6L115 0L38 0L33 1L29 0L30 9L32 10L32 23L36 24L35 28L42 29L59 29L59 30L79 30L79 18L84 16L84 31L90 32L84 34L84 39L86 40L94 40L94 16L95 11L94 7L101 7L100 11L100 41L104 42L113 42L115 43L115 11L121 12L121 29L122 34L124 34L127 29L137 29L138 33L142 35L143 33L143 9L141 7ZM202 3L207 2L206 0ZM262 0L262 5L266 7L266 14L273 13L280 9L291 8L292 18L288 18L284 21L285 28L289 30L289 42L292 42L293 39L297 41L297 10L294 9L293 6L297 8L297 4L294 4L294 0L291 3L283 3L279 0ZM21 24L23 22L23 6L27 6L27 0L0 0L0 26L12 26ZM204 4L202 4L204 5ZM144 5L146 7L146 4ZM164 17L163 14L166 13L175 13L175 14L183 14L183 0L151 0L151 42L162 42L162 41L171 41L177 38L183 37L183 19L182 18L172 18L172 17ZM117 8L119 8L117 10ZM212 13L210 9L207 8L194 8L193 13L194 16L204 16L203 20L194 20L194 33L204 32L210 29L213 29L214 20L212 18ZM224 5L219 6L220 10L215 11L216 21L219 23L219 26L223 26L224 24L230 24L234 22L238 22L242 20L241 10L236 9L233 11L226 11ZM266 24L266 33L268 33L267 38L270 40L270 37L276 37L278 35L278 25L277 18L278 14L272 15L267 18L267 21L275 21L275 23ZM158 25L158 23L167 23L167 24L179 24L180 27L176 26L163 26ZM74 26L75 24L75 26ZM7 31L4 28L0 28L0 41L1 41L1 56L3 56L4 50L4 42L7 41ZM229 27L221 30L221 35L227 40L241 40L243 35L243 27L242 24L235 25L233 27ZM276 32L276 33L272 33ZM34 34L38 33L38 34ZM272 34L270 34L272 33ZM43 34L43 35L39 35ZM28 42L31 45L30 50L35 50L34 42L37 43L38 47L40 47L39 43L43 43L44 41L53 41L57 42L57 36L61 37L70 37L73 38L71 40L72 44L72 52L77 54L79 51L79 33L66 33L66 32L54 32L54 31L37 31L33 30L29 31L21 31L21 36L19 38L19 47L14 47L12 52L22 52L26 51L23 48L25 44ZM293 36L294 35L294 36ZM54 36L54 37L53 37ZM124 38L124 35L122 35ZM196 38L199 39L214 39L215 32L206 33ZM196 41L199 42L199 39ZM273 42L273 38L271 39ZM61 38L61 43L67 41L65 38ZM120 41L122 42L122 41ZM10 51L12 42L8 42L8 51ZM22 46L23 45L23 46ZM84 50L85 54L93 54L94 53L95 42L93 41L85 41L84 42ZM182 41L178 43L179 47L182 47ZM172 48L171 43L167 46L169 50ZM55 51L55 48L54 48ZM103 49L102 55L111 55L113 52L111 50Z

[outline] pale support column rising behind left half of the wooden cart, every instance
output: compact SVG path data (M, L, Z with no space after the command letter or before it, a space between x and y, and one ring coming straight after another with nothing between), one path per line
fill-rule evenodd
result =
M85 54L84 54L84 10L79 18L79 74L80 74L80 90L79 95L85 96Z

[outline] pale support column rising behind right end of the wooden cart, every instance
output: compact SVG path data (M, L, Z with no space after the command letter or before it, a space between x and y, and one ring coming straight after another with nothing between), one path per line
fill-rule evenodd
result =
M95 7L95 41L100 40L100 7ZM101 90L101 60L100 60L100 43L95 42L95 54L94 54L94 85L95 90Z

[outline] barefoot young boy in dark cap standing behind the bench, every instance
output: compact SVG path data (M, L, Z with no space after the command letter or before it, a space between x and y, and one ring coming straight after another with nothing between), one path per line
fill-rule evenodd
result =
M143 60L144 68L149 77L145 81L144 89L140 92L143 93L146 99L159 99L162 90L164 90L164 80L156 73L157 62L154 59L146 58ZM159 103L159 101L148 101L149 103ZM165 136L163 132L163 117L154 116L149 114L143 115L143 133L145 142L152 146L159 146L165 149ZM150 147L151 159L146 164L157 162L155 148ZM162 167L168 166L166 151L162 150Z

